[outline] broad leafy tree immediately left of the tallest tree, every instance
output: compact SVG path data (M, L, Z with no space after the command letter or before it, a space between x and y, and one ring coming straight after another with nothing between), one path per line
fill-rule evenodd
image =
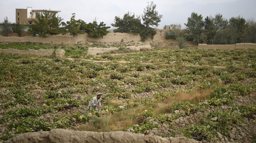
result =
M115 17L115 23L111 23L111 25L112 27L117 27L114 32L138 34L142 24L140 17L135 17L134 13L131 15L128 11L123 18Z

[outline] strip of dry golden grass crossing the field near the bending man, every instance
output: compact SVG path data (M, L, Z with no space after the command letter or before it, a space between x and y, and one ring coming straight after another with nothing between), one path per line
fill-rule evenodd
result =
M155 115L172 113L173 103L181 103L185 101L196 103L209 96L211 91L212 90L195 91L192 93L179 92L166 100L158 101L150 105L140 105L137 108L117 112L114 115L109 114L102 117L92 116L89 123L80 126L77 130L97 132L120 131L128 128L131 124L142 123L144 118L141 116L141 113L149 107L154 109L153 113ZM120 102L112 100L109 101L109 104L119 106Z

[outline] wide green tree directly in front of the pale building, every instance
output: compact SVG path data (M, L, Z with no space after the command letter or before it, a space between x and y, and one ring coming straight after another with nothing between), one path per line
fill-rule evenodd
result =
M41 37L59 34L61 33L60 22L62 20L56 16L56 13L52 14L45 10L43 13L36 14L33 24L27 24L29 27L28 33L39 34Z

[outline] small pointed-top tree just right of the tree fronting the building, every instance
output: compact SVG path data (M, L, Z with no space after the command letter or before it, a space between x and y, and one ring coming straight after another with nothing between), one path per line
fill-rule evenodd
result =
M72 17L70 18L70 21L67 21L67 24L65 22L62 22L63 26L63 35L66 33L70 33L70 35L73 35L75 37L76 34L84 34L84 31L80 30L81 23L85 23L83 20L75 20L76 13L72 13Z

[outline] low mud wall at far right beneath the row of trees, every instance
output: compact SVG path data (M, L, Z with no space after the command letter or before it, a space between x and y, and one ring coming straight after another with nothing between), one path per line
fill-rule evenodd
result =
M198 44L197 49L199 50L234 50L234 49L256 49L256 43L236 43L232 45L207 45L207 44Z

